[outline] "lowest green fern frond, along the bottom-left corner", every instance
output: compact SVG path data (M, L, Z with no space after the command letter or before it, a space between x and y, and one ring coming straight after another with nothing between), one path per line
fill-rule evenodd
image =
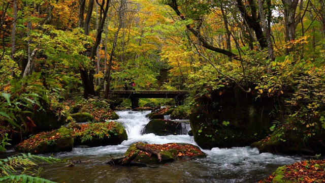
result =
M20 182L20 183L55 183L40 177L33 177L29 175L9 175L0 177L0 182Z

